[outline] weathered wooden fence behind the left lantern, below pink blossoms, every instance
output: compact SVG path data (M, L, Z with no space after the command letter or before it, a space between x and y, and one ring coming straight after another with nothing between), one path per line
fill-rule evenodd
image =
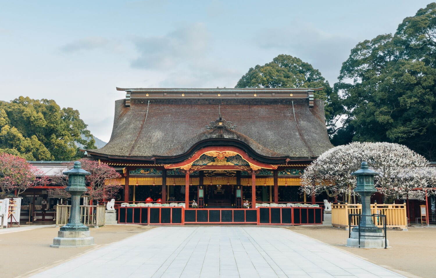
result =
M64 226L70 217L71 205L56 206L56 226ZM80 218L86 226L99 227L105 224L105 206L80 206Z

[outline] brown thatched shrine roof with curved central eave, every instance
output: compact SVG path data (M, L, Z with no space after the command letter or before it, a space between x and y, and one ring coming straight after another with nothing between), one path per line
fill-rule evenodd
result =
M109 159L181 160L208 144L232 144L267 160L316 158L332 147L323 101L315 100L309 107L307 97L287 95L288 98L167 96L136 100L129 95L129 107L125 99L115 102L110 141L101 149L87 151ZM218 118L219 106L222 118L237 125L235 130L205 129Z

